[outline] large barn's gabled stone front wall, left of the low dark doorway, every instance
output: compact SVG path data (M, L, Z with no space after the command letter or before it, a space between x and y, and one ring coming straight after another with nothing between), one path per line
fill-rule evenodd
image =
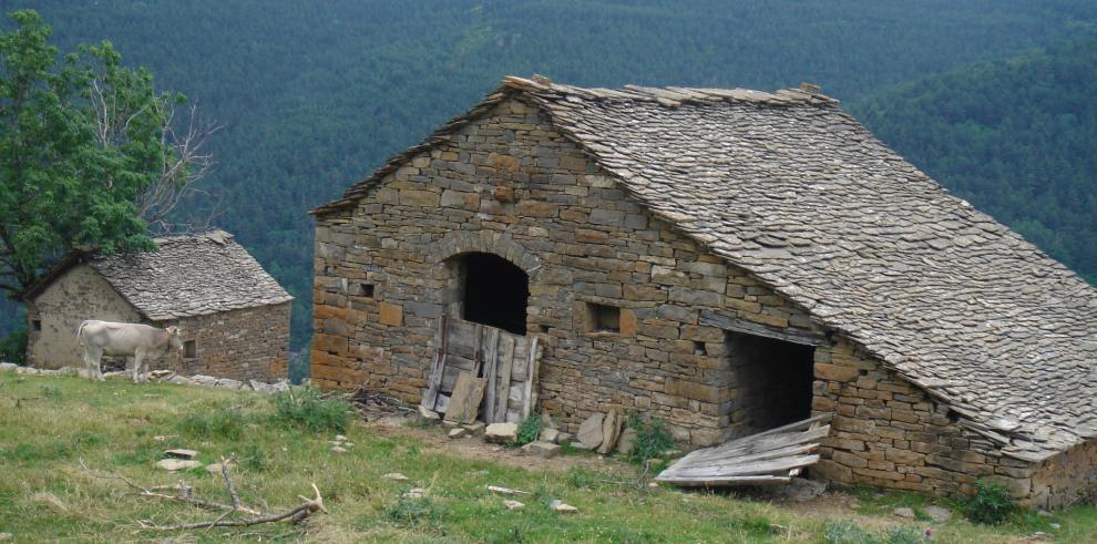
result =
M419 401L439 316L460 308L451 257L468 252L529 274L527 333L546 345L541 407L573 431L623 409L667 420L681 441L718 442L740 424L738 391L725 332L699 325L700 312L817 331L512 100L412 157L355 208L317 217L314 382ZM619 331L592 330L591 304L619 308Z

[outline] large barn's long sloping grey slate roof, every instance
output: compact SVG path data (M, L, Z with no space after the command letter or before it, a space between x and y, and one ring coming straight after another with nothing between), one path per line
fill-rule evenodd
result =
M578 89L506 78L386 163L510 97L541 106L652 213L1039 461L1097 435L1097 290L878 141L817 89Z

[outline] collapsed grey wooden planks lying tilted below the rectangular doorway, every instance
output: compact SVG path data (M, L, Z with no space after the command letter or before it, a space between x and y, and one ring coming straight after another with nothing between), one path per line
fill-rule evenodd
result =
M770 485L789 483L819 461L811 452L830 433L830 414L690 452L655 481L684 486Z

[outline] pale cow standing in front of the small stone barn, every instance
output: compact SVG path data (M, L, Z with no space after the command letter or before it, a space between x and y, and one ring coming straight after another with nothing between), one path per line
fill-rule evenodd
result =
M148 381L148 358L175 350L183 361L183 338L178 327L157 329L142 324L113 324L89 319L76 329L76 342L84 350L88 377L103 379L100 359L104 355L133 357L133 382Z

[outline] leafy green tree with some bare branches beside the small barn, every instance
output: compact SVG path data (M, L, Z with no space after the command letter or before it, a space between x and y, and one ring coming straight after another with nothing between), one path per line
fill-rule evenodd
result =
M195 111L176 131L177 93L157 93L110 42L59 61L38 13L0 34L0 289L19 299L74 248L151 248L153 232L211 166L216 126Z

